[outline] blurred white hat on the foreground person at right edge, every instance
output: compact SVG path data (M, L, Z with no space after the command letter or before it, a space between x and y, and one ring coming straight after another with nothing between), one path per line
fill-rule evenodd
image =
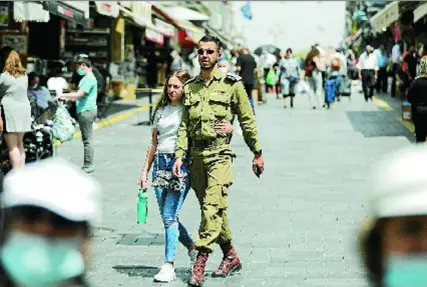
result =
M372 173L371 208L377 218L427 215L427 147L387 155Z

